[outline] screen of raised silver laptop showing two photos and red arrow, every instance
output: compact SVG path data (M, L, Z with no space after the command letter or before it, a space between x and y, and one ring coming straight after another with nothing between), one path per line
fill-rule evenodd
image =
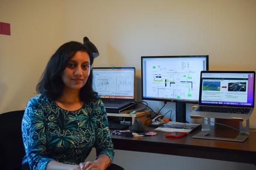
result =
M254 106L255 72L202 71L199 104Z

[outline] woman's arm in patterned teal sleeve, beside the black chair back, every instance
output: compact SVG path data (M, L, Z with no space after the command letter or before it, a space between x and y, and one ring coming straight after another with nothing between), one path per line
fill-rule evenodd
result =
M33 170L45 169L52 160L46 153L45 116L37 99L28 101L21 127L26 152L23 162L27 162Z

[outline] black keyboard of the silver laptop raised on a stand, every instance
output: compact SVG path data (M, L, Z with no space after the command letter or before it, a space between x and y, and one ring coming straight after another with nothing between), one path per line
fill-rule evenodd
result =
M250 112L250 108L199 106L196 111L198 111L198 112L248 114Z

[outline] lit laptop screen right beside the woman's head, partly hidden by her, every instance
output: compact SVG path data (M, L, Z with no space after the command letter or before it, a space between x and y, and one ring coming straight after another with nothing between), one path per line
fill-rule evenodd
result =
M135 68L93 68L93 90L104 99L135 99Z

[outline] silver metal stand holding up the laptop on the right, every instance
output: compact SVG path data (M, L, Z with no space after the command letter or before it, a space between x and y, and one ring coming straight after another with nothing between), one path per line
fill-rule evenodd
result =
M239 134L235 138L229 137L214 137L210 136L211 131L211 122L210 117L202 117L202 130L193 136L193 138L199 139L213 139L213 140L225 140L225 141L235 141L235 142L243 142L249 137L249 119L239 121ZM246 126L243 126L243 121L245 121ZM214 128L212 126L212 128Z

